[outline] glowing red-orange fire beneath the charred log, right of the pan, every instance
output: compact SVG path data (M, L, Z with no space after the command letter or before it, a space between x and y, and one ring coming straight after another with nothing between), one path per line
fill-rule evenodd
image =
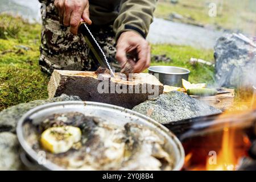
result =
M242 130L224 127L222 131L184 140L187 152L184 169L233 171L247 156L250 140Z

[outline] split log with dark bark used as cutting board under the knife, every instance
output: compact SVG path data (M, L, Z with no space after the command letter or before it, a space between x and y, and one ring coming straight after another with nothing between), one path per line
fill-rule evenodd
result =
M106 73L60 71L52 73L48 84L49 97L61 94L79 96L83 101L104 102L132 109L142 102L163 93L163 84L147 73L133 74L123 80L120 73L109 77Z

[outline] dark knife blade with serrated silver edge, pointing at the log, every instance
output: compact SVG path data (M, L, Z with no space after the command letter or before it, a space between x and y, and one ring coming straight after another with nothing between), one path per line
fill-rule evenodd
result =
M89 48L92 50L98 63L102 67L108 68L110 70L111 76L114 77L114 72L113 72L112 68L110 67L109 61L108 61L104 51L98 44L97 40L94 38L92 32L90 32L87 24L84 21L80 22L79 33L84 36L85 42L88 44Z

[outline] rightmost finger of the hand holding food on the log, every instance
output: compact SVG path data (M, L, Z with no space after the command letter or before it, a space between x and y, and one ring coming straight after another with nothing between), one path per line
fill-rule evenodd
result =
M145 69L145 65L147 64L148 57L148 43L143 43L141 46L137 48L138 51L138 62L134 66L134 73L140 73Z

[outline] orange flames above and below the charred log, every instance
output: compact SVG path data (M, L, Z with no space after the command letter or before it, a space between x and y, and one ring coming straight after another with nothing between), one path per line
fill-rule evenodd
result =
M247 92L241 92L245 96L237 97L234 101L234 105L229 110L226 110L220 115L220 118L228 118L232 121L235 118L237 121L245 119L246 115L253 110L256 110L256 90L254 90L253 96ZM247 94L247 95L246 95ZM250 118L247 118L247 123ZM243 121L243 120L241 120ZM221 123L220 123L221 124ZM230 122L229 124L232 124ZM222 136L218 138L220 133L205 135L204 139L199 139L200 143L196 143L195 146L189 142L197 142L196 139L190 139L185 142L185 150L188 151L185 157L184 169L186 170L207 170L207 171L234 171L238 167L239 160L242 156L247 155L247 150L251 146L250 140L247 137L245 131L240 126L243 125L230 125L228 123L224 125ZM244 123L246 125L246 123ZM216 138L214 138L216 137ZM216 142L220 143L220 148L216 148ZM205 150L202 149L205 146L205 142L208 144ZM212 147L211 146L213 142ZM196 149L195 147L200 147ZM215 153L213 155L207 154L207 147L213 148ZM199 151L199 154L197 153ZM201 155L200 155L201 153ZM209 156L210 155L210 156Z

